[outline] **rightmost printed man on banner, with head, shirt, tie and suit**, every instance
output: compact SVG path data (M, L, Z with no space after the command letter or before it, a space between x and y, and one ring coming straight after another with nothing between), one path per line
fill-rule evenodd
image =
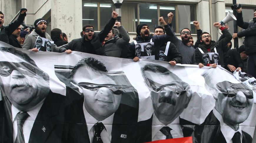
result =
M202 76L216 102L204 123L195 129L198 142L251 143L252 137L242 131L240 124L250 115L252 89L220 68L210 68Z

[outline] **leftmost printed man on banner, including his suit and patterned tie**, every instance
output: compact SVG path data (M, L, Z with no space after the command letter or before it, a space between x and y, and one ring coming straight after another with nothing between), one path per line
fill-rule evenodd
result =
M0 142L61 143L65 96L53 93L49 75L25 53L0 48Z

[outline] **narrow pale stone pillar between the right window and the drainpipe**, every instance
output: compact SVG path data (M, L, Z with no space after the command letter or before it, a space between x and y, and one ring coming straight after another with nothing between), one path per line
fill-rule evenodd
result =
M200 1L197 6L197 21L203 32L210 33L209 1Z

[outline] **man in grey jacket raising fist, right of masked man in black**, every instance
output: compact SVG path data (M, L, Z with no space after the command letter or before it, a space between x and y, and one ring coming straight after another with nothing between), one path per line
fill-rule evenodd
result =
M114 34L114 29L109 31L109 34L104 39L103 47L104 47L104 56L112 56L112 57L121 57L121 52L123 48L127 48L127 44L129 44L130 37L124 27L120 22L116 22L115 25L119 30L119 34L122 38L119 38L119 35Z

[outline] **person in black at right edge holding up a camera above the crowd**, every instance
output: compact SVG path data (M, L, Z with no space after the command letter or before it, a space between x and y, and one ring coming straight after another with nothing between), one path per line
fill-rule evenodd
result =
M234 33L232 37L245 37L245 52L248 55L247 73L256 78L256 9L253 13L253 21L250 23L244 22L242 7L235 10L237 11L237 25L245 30Z

